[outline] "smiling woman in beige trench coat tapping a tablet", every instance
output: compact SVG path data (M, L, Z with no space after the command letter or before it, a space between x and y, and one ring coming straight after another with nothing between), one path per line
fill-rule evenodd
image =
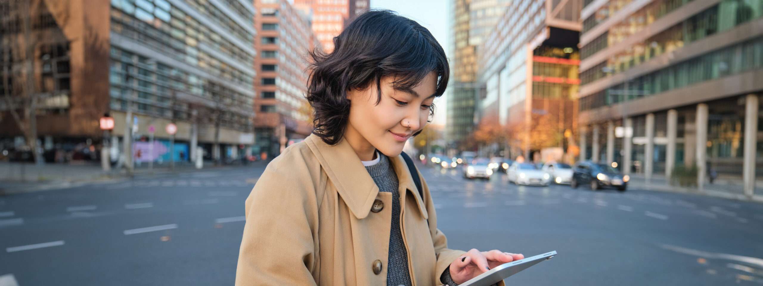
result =
M334 47L311 53L313 134L273 159L246 199L236 284L457 285L523 259L448 249L426 182L419 192L401 156L448 83L432 34L369 11Z

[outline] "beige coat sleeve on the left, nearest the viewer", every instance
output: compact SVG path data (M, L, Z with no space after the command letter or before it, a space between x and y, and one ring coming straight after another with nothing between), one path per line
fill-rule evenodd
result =
M284 163L270 162L246 198L237 286L317 284L311 275L317 239L314 184L306 170L295 174L300 167Z

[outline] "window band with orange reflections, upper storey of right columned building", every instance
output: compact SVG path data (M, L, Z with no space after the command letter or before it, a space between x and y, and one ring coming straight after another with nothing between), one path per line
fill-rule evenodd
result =
M649 39L627 47L610 59L582 72L582 84L624 72L655 56L680 50L687 43L728 31L732 27L760 18L761 15L763 0L725 0ZM611 36L609 38L611 42ZM588 45L581 50L587 48Z

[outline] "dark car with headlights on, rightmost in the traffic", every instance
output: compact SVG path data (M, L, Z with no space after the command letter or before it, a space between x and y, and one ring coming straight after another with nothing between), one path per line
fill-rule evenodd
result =
M578 185L588 184L591 190L597 191L601 188L617 188L618 191L625 191L628 188L628 175L622 175L616 169L607 164L596 162L579 162L572 169L572 188L578 188Z

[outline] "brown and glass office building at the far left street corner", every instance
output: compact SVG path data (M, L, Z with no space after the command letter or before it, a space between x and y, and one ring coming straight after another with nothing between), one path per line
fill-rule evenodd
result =
M22 3L31 10L20 13ZM195 146L211 158L236 158L254 143L255 14L243 0L3 1L0 49L12 56L2 66L21 66L28 53L19 52L33 43L31 90L44 94L37 131L45 149L95 158L98 118L108 113L114 153L127 142L128 162L188 160ZM18 28L24 17L32 18L34 42ZM28 95L16 75L3 72L11 88L0 93ZM12 122L2 121L0 136L21 133ZM150 146L142 138L151 134Z

